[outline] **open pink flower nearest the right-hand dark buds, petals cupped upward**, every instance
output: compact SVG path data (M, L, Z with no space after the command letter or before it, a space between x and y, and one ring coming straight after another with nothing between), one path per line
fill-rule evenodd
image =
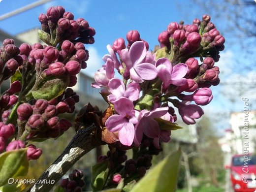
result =
M171 62L166 58L160 58L156 62L158 76L162 80L163 90L166 90L170 84L181 86L187 83L183 78L188 71L187 64L176 64L172 66Z

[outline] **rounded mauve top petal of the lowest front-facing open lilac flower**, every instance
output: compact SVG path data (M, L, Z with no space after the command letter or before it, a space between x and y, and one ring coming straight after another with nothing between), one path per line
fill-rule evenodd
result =
M131 114L131 110L133 109L133 103L126 97L120 97L114 103L115 110L118 114L125 117L127 114Z

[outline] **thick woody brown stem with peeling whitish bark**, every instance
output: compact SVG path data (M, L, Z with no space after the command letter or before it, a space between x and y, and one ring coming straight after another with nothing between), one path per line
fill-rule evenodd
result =
M101 145L102 143L96 139L96 129L94 124L87 128L80 128L63 153L32 186L30 192L49 192L77 160Z

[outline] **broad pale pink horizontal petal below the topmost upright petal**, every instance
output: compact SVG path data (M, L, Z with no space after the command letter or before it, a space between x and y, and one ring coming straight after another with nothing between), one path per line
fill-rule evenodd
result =
M154 64L143 63L137 64L134 66L137 74L144 80L152 80L155 79L158 75L158 70Z

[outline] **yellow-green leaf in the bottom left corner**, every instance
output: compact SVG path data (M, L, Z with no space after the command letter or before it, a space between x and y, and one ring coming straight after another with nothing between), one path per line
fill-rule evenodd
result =
M0 155L0 186L11 177L24 176L29 168L27 148L4 152Z

